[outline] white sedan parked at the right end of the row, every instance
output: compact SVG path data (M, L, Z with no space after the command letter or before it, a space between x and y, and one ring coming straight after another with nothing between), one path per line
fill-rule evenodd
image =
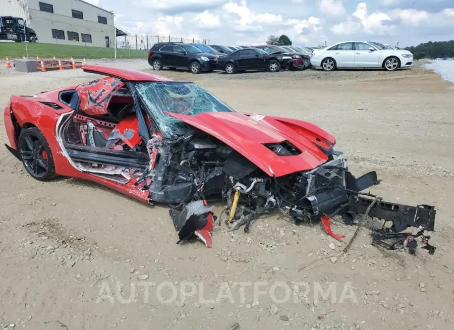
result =
M411 67L413 54L377 42L343 41L315 49L311 54L311 64L325 71L341 68L383 68L395 71Z

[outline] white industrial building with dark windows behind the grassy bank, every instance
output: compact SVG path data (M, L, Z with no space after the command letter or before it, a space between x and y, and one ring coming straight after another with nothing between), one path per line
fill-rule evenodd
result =
M0 0L0 16L23 18L38 41L113 46L113 13L82 0Z

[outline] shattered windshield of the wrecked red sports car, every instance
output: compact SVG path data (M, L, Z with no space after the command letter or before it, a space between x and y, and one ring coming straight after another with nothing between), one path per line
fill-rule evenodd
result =
M185 123L166 113L195 116L209 112L235 112L206 89L190 82L143 82L135 84L149 114L161 133L175 135L185 130Z

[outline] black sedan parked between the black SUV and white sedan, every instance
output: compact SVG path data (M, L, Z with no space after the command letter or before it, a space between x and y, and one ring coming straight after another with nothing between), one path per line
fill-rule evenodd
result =
M289 68L292 61L292 57L285 54L268 54L259 48L245 48L219 58L217 69L230 75L246 70L278 72Z

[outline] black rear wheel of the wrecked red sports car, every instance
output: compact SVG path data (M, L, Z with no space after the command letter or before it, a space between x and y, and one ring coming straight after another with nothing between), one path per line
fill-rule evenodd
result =
M52 152L39 129L23 129L18 139L18 149L25 170L34 179L48 181L55 177Z

